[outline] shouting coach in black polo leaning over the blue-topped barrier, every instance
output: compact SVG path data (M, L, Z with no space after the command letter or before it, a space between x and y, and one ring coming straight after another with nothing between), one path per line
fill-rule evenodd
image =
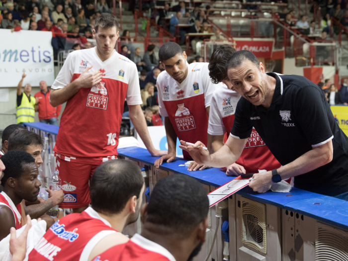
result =
M249 51L233 54L226 70L233 89L242 95L229 139L212 155L202 146L180 147L197 163L229 166L241 155L254 126L283 165L254 174L249 184L254 191L263 193L272 182L294 176L297 188L348 200L348 138L324 92L302 76L266 74Z

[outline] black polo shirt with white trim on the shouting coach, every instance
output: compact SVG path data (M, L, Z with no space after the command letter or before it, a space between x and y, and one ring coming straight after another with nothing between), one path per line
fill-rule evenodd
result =
M332 162L296 176L294 186L328 196L347 192L348 138L336 123L323 90L302 76L268 75L276 79L270 107L255 106L242 97L231 136L249 138L254 126L282 165L332 139Z

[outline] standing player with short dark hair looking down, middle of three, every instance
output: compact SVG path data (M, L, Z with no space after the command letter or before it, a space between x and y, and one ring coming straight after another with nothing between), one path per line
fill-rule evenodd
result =
M186 53L174 42L161 47L159 58L166 70L158 76L157 88L160 114L165 116L168 154L155 162L157 168L165 160L175 160L177 137L207 145L210 101L215 88L222 85L210 81L208 63L188 64ZM191 160L186 151L183 158Z

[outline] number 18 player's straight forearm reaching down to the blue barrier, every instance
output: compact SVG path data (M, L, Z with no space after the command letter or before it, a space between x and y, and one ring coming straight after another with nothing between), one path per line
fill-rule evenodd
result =
M129 105L129 118L132 121L134 128L139 134L141 140L144 142L145 147L148 151L153 154L155 147L152 144L150 134L148 131L148 126L145 121L143 110L140 105Z

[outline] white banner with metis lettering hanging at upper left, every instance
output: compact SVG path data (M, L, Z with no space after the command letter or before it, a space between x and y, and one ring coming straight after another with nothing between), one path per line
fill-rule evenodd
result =
M23 73L23 86L53 84L52 32L0 29L0 39L0 87L17 87Z

